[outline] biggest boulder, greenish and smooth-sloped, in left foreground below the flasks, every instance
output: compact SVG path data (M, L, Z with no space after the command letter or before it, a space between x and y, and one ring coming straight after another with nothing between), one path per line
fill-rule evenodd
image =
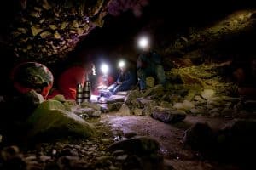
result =
M65 111L61 102L52 99L39 105L28 117L27 123L32 126L28 132L32 139L88 138L95 132L95 127L72 112Z

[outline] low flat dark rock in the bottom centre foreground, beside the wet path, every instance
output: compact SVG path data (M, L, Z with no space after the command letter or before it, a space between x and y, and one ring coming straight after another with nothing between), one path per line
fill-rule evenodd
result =
M109 150L127 150L135 154L154 153L160 149L160 144L149 137L138 136L131 139L124 139L109 145Z

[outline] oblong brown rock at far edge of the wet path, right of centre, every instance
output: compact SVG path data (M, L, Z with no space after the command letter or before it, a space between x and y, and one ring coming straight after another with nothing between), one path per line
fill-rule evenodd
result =
M186 118L186 114L181 111L173 111L169 108L156 106L152 114L154 119L166 123L181 122Z

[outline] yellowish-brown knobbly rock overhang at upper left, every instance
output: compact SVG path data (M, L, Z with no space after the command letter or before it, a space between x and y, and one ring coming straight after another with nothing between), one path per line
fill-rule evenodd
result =
M52 64L65 59L76 44L107 14L132 9L135 14L147 0L20 0L11 23L9 45L16 60Z

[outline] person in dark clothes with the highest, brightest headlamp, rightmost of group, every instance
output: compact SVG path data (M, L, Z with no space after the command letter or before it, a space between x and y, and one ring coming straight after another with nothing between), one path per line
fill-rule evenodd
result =
M161 65L161 57L155 51L152 51L148 45L148 39L143 37L139 41L139 46L143 48L143 53L137 59L137 77L140 90L146 89L146 77L154 77L159 84L166 83L166 75Z

